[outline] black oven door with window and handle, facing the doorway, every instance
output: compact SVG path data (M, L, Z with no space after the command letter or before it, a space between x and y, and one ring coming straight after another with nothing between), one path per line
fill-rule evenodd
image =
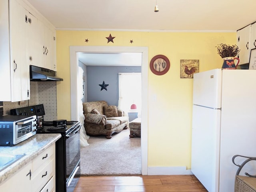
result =
M66 190L73 192L80 177L80 128L74 127L66 135Z

